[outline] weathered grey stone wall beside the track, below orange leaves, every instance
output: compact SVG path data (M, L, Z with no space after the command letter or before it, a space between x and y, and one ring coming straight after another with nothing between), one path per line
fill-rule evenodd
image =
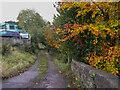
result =
M118 88L117 76L96 69L85 63L72 60L71 70L78 78L81 88Z

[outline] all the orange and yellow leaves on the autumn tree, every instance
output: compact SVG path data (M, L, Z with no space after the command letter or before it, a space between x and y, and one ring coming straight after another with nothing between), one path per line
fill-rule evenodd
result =
M103 11L106 14L107 13L109 14L108 22L104 21L105 17L102 14L103 12L100 10L99 7L101 9L103 9ZM88 2L68 2L68 3L64 3L61 5L61 9L66 10L65 12L68 12L69 10L71 10L71 8L74 8L74 9L77 8L77 9L75 9L77 12L77 14L75 16L76 21L79 22L78 17L81 16L80 19L82 19L82 22L81 22L82 25L75 23L74 25L72 24L70 26L65 25L65 27L63 27L64 30L58 28L56 30L56 34L61 37L61 39L59 39L59 41L62 43L69 39L70 41L73 41L72 43L79 45L79 44L81 44L79 41L79 39L81 39L81 37L90 37L91 38L93 36L93 37L95 37L95 40L93 40L93 42L94 42L93 44L95 47L99 44L103 45L103 42L104 42L104 45L102 46L102 48L99 48L100 50L95 49L96 52L93 52L92 55L89 55L89 57L86 57L86 59L89 61L89 63L97 68L100 68L102 66L104 68L106 65L105 64L99 65L99 63L118 61L118 59L116 59L116 58L118 56L120 56L120 54L118 53L118 51L120 49L118 50L117 46L110 47L112 45L112 43L114 43L114 42L110 43L110 40L114 39L115 35L117 35L117 33L119 32L118 29L116 30L116 27L118 26L118 20L114 20L113 18L111 18L114 14L111 15L112 13L109 12L110 10L114 10L112 8L112 5L109 6L108 3L96 3L96 2L95 3L91 2L91 4L89 4ZM84 21L84 16L86 16L87 13L89 15L90 11L92 11L90 18L95 18L95 20L91 19L92 22L95 21L95 23L89 24L89 23L87 23L87 22L89 22L89 19L88 20L85 19L85 21ZM98 14L98 15L96 15L96 14ZM75 17L73 17L73 18L75 18ZM114 18L117 18L117 17L114 16ZM66 36L64 36L64 35L66 35ZM110 40L109 40L109 36L110 36ZM108 38L108 40L106 40L107 39L106 37ZM118 37L118 35L117 35L117 37ZM76 41L78 43L76 43ZM111 40L111 41L113 41L113 40ZM88 42L89 42L89 40L88 40ZM50 43L54 43L54 42L52 42L52 40L50 40ZM58 43L56 44L55 47L60 48ZM115 51L113 51L113 50L115 50ZM114 54L114 55L112 55L112 54ZM108 65L111 65L111 63ZM105 69L105 70L107 70L107 69ZM113 69L111 69L111 70L113 71ZM114 70L114 72L115 72L115 70Z

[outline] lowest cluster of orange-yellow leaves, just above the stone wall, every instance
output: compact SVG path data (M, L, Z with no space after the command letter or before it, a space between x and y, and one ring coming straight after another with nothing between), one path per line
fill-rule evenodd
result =
M102 49L104 49L105 52L102 53L101 56L97 55L96 52L89 53L89 57L86 57L86 59L89 61L90 65L114 75L120 75L118 72L120 68L120 61L118 59L118 57L120 57L120 47L114 46L105 49L103 46L101 47L101 50Z

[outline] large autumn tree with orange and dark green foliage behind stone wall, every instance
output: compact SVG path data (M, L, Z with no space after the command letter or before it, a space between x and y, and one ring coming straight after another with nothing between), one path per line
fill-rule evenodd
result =
M117 2L59 2L52 43L72 58L119 75Z

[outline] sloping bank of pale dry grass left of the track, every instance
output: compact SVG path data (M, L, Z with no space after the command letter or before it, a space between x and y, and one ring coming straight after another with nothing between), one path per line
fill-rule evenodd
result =
M15 49L9 56L2 56L0 63L2 67L3 79L18 75L23 72L36 60L36 55L31 55L28 52L22 52L19 49Z

